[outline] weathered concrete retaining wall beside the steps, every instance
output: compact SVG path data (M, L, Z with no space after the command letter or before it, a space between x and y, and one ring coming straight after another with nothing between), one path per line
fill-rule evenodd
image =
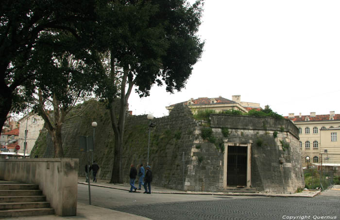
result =
M76 158L0 159L0 179L39 185L59 216L77 214Z

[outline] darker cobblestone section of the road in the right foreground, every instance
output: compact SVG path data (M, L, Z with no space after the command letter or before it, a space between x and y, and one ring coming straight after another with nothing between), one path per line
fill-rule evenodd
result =
M282 220L294 217L298 220L340 219L340 197L225 197L215 201L146 204L112 209L153 220Z

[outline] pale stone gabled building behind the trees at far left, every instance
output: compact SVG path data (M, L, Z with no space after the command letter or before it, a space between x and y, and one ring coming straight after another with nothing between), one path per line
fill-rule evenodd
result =
M26 145L25 154L30 154L32 148L34 147L35 141L45 124L45 121L39 115L29 113L28 115L21 118L19 120L19 123L20 129L18 145L20 146L20 150L18 151L18 153L24 153Z

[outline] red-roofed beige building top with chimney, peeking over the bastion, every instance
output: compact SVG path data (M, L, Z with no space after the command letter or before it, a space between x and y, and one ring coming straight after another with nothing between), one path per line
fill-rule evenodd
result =
M196 113L198 110L215 110L221 112L223 110L239 110L242 112L248 112L251 109L260 109L259 103L254 102L241 102L241 95L233 95L232 100L219 96L217 98L200 97L197 99L190 98L189 100L182 102L190 108L192 113ZM170 111L175 105L166 107Z

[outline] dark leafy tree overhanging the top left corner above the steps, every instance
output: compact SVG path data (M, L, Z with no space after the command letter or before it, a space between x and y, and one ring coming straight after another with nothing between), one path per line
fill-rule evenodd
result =
M105 2L105 0L102 0ZM34 81L34 71L24 70L42 33L66 31L82 46L95 21L96 6L101 0L2 0L0 4L0 130L6 116L18 100L24 83ZM91 32L91 31L89 31ZM87 34L87 33L86 33ZM54 44L50 45L54 47Z

